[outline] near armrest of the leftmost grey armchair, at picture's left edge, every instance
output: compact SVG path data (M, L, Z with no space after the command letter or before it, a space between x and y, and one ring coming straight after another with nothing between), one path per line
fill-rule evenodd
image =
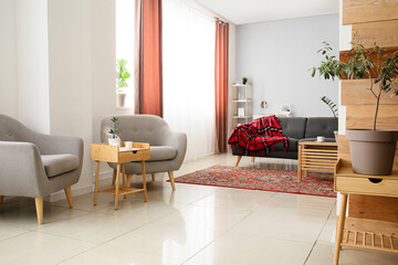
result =
M0 194L42 197L49 186L35 145L0 141Z

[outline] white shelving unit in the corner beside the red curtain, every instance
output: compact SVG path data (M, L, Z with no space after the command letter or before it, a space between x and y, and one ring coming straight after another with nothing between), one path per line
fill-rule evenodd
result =
M232 129L253 119L253 89L250 83L231 85Z

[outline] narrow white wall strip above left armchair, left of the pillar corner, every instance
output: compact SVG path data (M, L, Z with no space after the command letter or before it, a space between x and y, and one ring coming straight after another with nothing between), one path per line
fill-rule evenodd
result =
M19 120L50 132L48 1L17 0Z

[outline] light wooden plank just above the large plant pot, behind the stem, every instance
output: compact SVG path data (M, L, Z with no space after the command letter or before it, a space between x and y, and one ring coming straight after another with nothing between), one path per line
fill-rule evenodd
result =
M346 106L347 129L371 129L375 116L375 105ZM377 118L377 129L398 129L398 105L380 105Z

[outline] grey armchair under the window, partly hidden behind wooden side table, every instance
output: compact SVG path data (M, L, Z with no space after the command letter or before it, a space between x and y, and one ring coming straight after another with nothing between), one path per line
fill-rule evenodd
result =
M107 142L109 138L111 118L119 118L119 134L123 141L149 142L150 159L146 161L145 171L151 173L168 172L171 188L176 189L174 171L181 167L186 150L187 136L182 132L174 132L168 124L154 115L121 115L104 117L101 125L101 140ZM116 165L109 163L114 169L113 182L116 176ZM130 184L132 174L142 174L140 162L125 163L127 184Z

